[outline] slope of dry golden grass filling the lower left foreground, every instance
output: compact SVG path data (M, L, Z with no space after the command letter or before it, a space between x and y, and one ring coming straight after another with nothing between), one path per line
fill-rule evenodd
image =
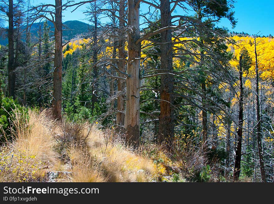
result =
M163 154L158 147L133 150L112 129L99 130L97 124L87 122L58 123L47 112L15 113L13 142L0 151L1 182L158 182L171 178L171 172L155 159L156 154Z

